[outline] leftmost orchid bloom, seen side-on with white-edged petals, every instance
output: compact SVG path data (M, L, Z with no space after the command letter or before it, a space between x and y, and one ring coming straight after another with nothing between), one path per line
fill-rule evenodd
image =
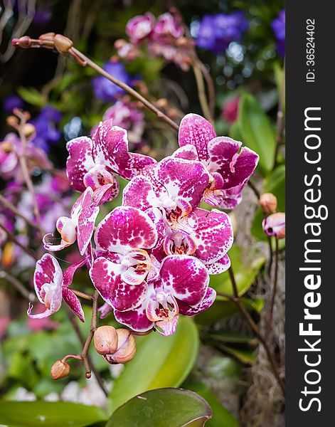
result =
M46 306L44 312L36 315L31 314L33 305L29 305L27 314L31 319L43 319L53 315L60 309L62 300L68 304L71 310L79 317L82 322L85 322L83 308L80 305L78 297L69 289L73 281L73 275L77 268L84 265L85 259L80 260L78 263L70 265L64 274L58 260L56 260L50 253L43 255L41 260L36 263L35 273L33 275L33 285L36 295L41 304Z

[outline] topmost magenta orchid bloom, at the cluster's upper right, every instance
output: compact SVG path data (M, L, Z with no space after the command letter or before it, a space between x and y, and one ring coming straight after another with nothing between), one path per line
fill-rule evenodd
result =
M242 200L242 190L258 163L258 154L242 142L216 137L213 126L196 114L188 114L179 127L175 157L200 160L211 175L203 200L211 206L233 209ZM240 152L238 152L240 150Z

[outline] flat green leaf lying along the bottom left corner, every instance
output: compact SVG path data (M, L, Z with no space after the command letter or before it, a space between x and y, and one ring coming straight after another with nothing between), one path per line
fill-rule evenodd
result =
M106 413L96 406L68 402L0 402L0 423L11 427L84 427L106 419Z

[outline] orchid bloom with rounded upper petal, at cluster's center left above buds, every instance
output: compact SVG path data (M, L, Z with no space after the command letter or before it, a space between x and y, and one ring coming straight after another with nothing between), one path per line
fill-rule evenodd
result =
M139 209L120 206L95 231L96 254L90 278L105 302L119 311L131 310L144 300L155 260L147 252L157 232L149 216Z

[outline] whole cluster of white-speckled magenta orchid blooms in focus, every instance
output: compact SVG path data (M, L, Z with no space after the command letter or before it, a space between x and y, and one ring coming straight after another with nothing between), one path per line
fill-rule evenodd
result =
M70 284L86 264L105 301L101 317L114 312L131 330L173 334L179 315L193 316L213 304L209 275L230 267L230 218L199 205L233 209L258 155L241 142L216 137L211 124L195 114L181 121L179 149L160 162L129 152L126 130L112 120L101 122L92 139L78 137L67 148L68 179L82 194L70 217L57 221L60 243L51 243L50 236L44 242L48 251L60 251L77 241L82 258L63 273L55 257L43 255L34 285L46 311L32 315L30 307L28 315L47 317L64 299L84 320ZM116 175L129 181L122 206L95 226L101 204L119 191Z

